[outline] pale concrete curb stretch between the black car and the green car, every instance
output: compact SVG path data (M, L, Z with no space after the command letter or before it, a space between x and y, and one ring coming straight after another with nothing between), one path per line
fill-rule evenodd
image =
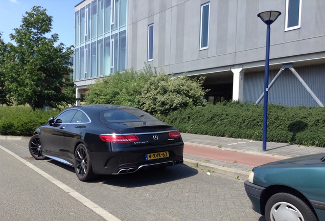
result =
M183 158L184 164L193 167L194 163L197 163L198 161L190 160ZM229 177L233 177L234 179L241 180L241 181L246 181L248 180L248 176L250 172L242 171L242 170L237 170L237 169L232 169L228 167L223 167L223 166L218 166L214 164L208 164L204 162L199 162L199 169L209 169L213 170L215 173L220 174L220 175L226 175Z

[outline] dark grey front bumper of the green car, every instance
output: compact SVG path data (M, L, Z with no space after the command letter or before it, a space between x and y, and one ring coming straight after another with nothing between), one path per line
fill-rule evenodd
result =
M247 196L252 203L252 209L262 214L260 200L261 200L261 194L265 188L252 184L248 180L245 181L244 186L245 186L245 191L247 193Z

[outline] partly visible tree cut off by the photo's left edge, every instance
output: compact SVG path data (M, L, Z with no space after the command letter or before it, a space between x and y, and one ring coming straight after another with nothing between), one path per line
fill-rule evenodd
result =
M5 91L5 54L7 53L7 46L4 40L1 38L2 33L0 32L0 104L1 105L12 105L11 100L8 98L8 93Z

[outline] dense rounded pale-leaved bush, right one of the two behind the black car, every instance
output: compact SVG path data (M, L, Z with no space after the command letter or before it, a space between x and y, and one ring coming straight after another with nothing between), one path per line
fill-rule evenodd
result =
M151 78L142 90L140 107L155 116L166 115L177 109L203 106L203 96L207 90L202 89L204 78L181 76L173 78L161 74Z

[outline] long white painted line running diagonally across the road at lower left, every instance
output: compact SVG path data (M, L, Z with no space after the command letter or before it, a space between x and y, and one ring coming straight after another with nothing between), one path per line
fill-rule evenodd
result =
M85 205L86 207L88 207L89 209L91 209L92 211L97 213L98 215L102 216L105 220L108 220L108 221L121 221L119 218L113 216L112 214L110 214L109 212L107 212L106 210L104 210L103 208L101 208L100 206L95 204L94 202L91 202L86 197L84 197L80 193L76 192L74 189L72 189L72 188L68 187L67 185L65 185L64 183L58 181L53 176L51 176L50 174L48 174L48 173L44 172L43 170L37 168L36 166L31 164L27 160L22 159L17 154L11 152L10 150L6 149L5 147L3 147L1 145L0 145L0 148L3 149L4 151L6 151L7 153L9 153L11 156L16 158L20 162L24 163L26 166L30 167L31 169L33 169L34 171L39 173L40 175L44 176L44 178L48 179L49 181L51 181L52 183L57 185L59 188L61 188L62 190L67 192L69 195L74 197L77 201L79 201L80 203L82 203L83 205Z

